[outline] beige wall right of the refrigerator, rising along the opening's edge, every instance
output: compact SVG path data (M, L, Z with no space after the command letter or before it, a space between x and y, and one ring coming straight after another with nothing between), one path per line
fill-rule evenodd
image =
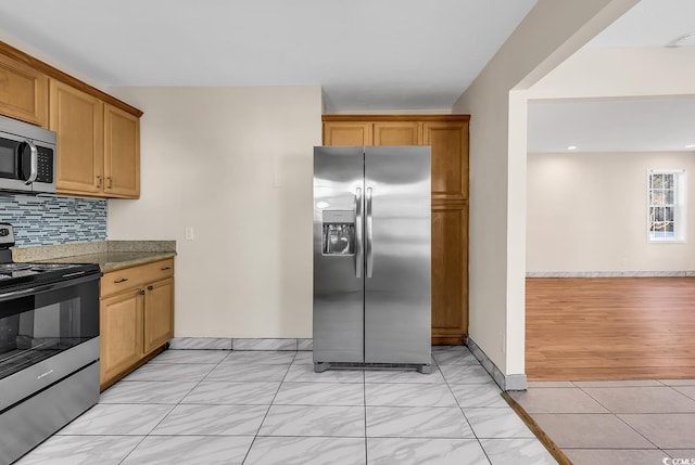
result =
M506 375L525 372L526 89L635 3L540 0L453 107L471 115L469 333Z

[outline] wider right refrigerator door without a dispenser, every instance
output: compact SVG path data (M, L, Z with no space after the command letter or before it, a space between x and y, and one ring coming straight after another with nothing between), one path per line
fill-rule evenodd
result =
M430 147L365 147L365 362L430 363Z

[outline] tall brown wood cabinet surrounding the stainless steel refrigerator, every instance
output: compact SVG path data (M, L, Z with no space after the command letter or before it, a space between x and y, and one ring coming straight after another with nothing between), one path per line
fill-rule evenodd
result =
M463 344L468 336L469 119L469 115L323 118L325 145L431 146L432 344Z

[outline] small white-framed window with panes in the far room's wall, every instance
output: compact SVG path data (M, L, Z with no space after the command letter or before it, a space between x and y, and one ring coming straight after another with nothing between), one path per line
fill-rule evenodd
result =
M655 169L647 173L647 240L685 241L685 171Z

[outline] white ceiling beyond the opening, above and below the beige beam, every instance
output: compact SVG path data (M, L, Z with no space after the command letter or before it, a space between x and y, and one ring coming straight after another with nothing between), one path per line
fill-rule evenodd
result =
M694 31L695 0L642 0L585 47L667 47ZM533 153L568 152L570 145L577 152L695 152L686 147L693 144L695 95L529 104Z

